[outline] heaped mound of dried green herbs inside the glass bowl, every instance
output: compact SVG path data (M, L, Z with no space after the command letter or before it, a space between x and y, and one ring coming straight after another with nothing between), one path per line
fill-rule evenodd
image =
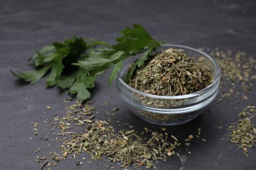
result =
M211 72L188 58L183 50L169 48L137 69L129 86L154 95L186 95L212 81Z

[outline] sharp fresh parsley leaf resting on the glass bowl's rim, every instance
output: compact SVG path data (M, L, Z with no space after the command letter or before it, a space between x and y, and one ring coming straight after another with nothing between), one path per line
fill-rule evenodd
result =
M143 65L148 55L164 43L155 41L140 24L133 24L133 28L125 27L120 33L122 36L117 37L117 44L113 44L111 48L98 49L97 52L89 54L86 58L74 65L83 67L92 76L99 75L114 65L114 69L108 80L108 87L110 87L116 79L118 71L122 68L124 59L143 53L142 58L137 60L127 73L127 81L133 75L133 71Z

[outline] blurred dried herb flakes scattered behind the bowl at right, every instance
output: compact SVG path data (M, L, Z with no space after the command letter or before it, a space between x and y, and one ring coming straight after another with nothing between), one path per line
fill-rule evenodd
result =
M247 101L248 97L244 93L251 92L252 80L256 80L256 60L244 52L223 51L219 50L219 48L202 48L201 50L215 58L221 67L222 80L220 88L223 92L222 98L217 99L216 103L223 101L223 99L230 99L230 97ZM235 93L239 86L244 90L243 93Z

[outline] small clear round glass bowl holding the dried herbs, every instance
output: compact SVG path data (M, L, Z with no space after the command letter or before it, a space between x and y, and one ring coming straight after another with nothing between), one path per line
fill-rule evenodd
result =
M136 60L135 57L125 61L123 69L119 71L117 90L129 108L143 120L165 126L184 124L201 114L215 99L219 90L221 69L215 59L195 48L175 44L164 44L161 47L163 50L168 48L184 50L189 58L193 58L196 63L200 63L211 71L213 82L198 92L186 95L163 96L139 92L131 88L123 78L131 63Z

